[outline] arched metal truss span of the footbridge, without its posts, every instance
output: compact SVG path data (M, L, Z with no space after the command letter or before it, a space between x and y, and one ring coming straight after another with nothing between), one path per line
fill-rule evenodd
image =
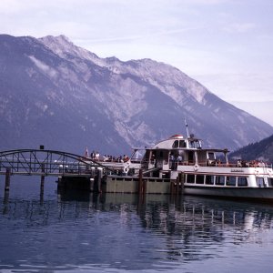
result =
M91 174L92 167L106 168L91 158L56 150L17 149L0 152L0 174L5 174L8 169L12 175L86 176Z

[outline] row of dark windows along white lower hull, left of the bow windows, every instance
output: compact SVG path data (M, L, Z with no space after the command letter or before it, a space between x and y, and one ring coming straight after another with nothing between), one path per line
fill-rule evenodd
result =
M225 176L204 176L204 175L186 175L185 182L218 185L218 186L245 186L248 187L247 177L225 177Z

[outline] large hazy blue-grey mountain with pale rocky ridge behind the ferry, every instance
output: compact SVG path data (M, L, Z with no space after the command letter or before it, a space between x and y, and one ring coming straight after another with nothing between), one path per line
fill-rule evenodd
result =
M0 35L0 150L129 153L176 133L236 149L273 127L173 66L100 58L66 36Z

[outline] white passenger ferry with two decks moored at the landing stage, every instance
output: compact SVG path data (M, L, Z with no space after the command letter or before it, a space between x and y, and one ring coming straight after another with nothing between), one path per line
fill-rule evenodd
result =
M242 160L231 163L227 148L203 148L201 140L193 135L171 136L146 147L141 160L136 158L140 150L134 151L125 166L131 176L142 168L146 177L177 181L182 173L184 194L273 200L272 164Z

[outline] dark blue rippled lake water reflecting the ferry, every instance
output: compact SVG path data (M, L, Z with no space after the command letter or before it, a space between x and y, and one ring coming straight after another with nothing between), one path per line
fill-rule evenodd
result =
M58 194L0 177L1 272L272 272L273 206L202 197Z

